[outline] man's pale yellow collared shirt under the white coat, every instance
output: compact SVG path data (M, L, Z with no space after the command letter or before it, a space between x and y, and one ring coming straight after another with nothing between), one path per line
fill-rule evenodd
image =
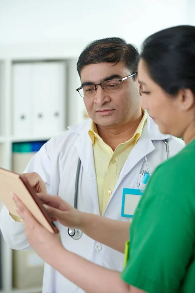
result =
M115 151L104 143L98 135L96 124L92 121L89 128L89 136L93 144L94 163L96 170L99 212L102 215L117 183L118 176L124 166L132 148L141 136L143 127L147 121L144 110L143 118L137 127L134 136L125 143L117 146Z

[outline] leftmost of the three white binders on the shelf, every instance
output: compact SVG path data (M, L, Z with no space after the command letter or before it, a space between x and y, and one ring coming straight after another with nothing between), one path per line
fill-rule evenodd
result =
M29 63L13 64L13 134L32 132L32 67Z

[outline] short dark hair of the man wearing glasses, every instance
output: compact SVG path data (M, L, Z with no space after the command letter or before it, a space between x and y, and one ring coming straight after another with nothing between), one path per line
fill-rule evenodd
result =
M77 70L88 64L101 62L118 63L122 61L131 71L137 72L139 53L136 46L128 44L121 38L106 38L89 43L78 58Z

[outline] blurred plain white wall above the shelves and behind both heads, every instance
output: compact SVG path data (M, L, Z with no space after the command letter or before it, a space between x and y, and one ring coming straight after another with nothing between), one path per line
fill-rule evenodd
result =
M0 58L76 60L88 42L110 36L140 48L157 30L195 24L194 15L195 0L0 0ZM68 121L74 124L84 106L75 91L76 62L71 70Z

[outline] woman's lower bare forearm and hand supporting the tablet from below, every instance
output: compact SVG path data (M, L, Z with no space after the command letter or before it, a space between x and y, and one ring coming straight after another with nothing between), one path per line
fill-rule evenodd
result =
M144 291L124 283L119 272L102 268L77 254L65 250L59 234L52 234L43 228L16 195L13 195L13 200L16 203L16 211L23 219L29 244L45 262L53 266L54 269L83 291L89 293L144 293ZM64 203L60 205L61 207L64 207Z

